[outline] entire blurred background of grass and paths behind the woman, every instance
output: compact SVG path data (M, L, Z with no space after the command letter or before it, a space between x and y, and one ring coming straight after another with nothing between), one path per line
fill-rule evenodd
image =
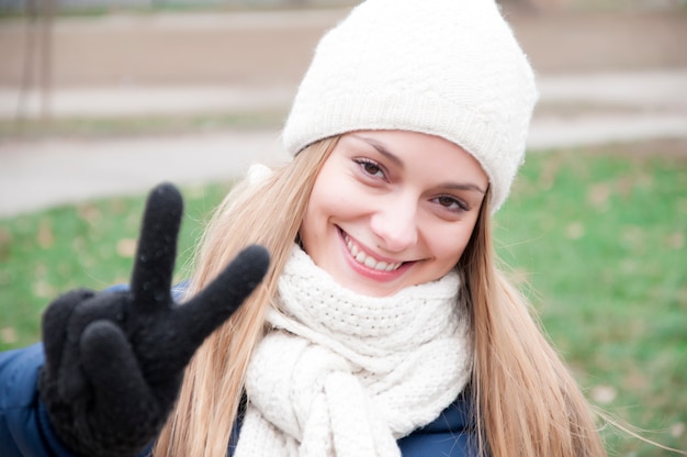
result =
M0 0L0 349L57 293L128 278L182 187L178 276L280 126L337 0ZM687 2L502 0L538 73L498 252L593 403L687 450ZM611 455L672 455L615 427Z

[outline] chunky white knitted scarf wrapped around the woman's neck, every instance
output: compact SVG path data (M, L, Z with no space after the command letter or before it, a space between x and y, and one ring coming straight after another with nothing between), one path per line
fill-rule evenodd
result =
M297 246L280 310L250 360L236 457L399 456L471 372L458 275L373 298L337 285Z

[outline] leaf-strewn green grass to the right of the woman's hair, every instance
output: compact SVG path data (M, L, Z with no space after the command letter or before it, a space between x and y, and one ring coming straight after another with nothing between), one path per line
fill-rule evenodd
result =
M588 395L687 449L687 157L530 155L496 220L502 257ZM611 455L666 454L608 441Z

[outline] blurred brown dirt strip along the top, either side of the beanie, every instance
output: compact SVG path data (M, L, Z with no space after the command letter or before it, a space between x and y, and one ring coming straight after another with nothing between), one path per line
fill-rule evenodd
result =
M61 19L54 29L54 86L293 86L322 33L345 12ZM684 9L594 13L507 9L505 14L543 74L687 67ZM0 25L0 86L18 87L22 80L26 32L20 22Z

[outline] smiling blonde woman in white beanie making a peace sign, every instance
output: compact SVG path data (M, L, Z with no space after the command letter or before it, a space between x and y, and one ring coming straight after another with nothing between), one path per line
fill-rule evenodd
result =
M132 291L58 299L44 368L40 347L0 361L34 374L13 411L60 455L605 455L492 246L536 99L494 2L368 0L317 47L294 159L217 210L190 302L167 292L180 201L161 187ZM251 244L269 268L259 248L225 268Z

